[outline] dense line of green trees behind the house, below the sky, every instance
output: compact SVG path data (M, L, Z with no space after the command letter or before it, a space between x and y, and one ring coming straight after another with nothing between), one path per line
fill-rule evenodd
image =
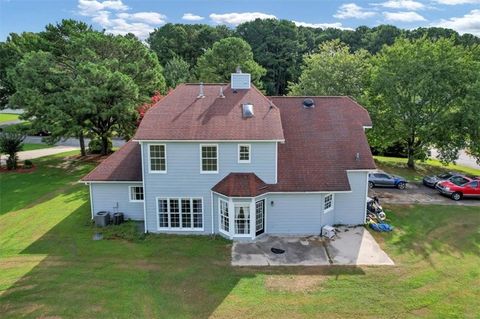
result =
M466 148L480 158L480 39L442 28L355 30L267 19L226 26L166 24L140 42L72 20L0 43L0 103L50 141L130 137L138 106L179 83L228 82L237 66L267 95L349 95L374 121L371 145L409 157ZM157 94L157 95L155 95ZM145 104L144 104L145 105ZM82 146L82 153L85 147Z

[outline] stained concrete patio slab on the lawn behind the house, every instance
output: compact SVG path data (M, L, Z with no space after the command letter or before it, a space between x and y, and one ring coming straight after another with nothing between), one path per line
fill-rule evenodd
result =
M235 242L233 266L394 265L364 227L338 227L334 239L320 236L265 236L254 242ZM275 254L271 248L285 250Z

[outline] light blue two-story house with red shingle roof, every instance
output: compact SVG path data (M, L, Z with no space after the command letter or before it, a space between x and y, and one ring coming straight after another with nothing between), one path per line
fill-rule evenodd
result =
M120 211L145 232L319 234L365 222L370 126L348 97L266 97L234 73L178 86L82 181L92 217Z

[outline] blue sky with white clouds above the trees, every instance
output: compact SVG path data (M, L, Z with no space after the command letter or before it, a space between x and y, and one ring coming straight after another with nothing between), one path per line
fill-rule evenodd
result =
M255 18L347 29L441 26L480 36L480 0L0 0L0 41L11 32L41 31L64 18L142 39L168 22L234 27Z

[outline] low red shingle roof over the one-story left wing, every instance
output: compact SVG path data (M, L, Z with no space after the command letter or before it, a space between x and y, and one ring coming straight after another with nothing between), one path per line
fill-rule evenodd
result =
M95 181L142 181L140 144L129 141L81 179Z

